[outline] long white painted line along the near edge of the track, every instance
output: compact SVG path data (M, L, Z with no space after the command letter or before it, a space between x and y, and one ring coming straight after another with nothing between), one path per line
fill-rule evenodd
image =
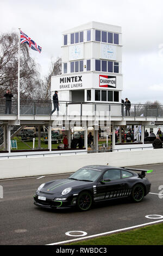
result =
M85 240L85 239L93 238L93 237L97 237L97 236L114 234L114 233L117 233L117 232L120 232L120 231L125 231L125 230L129 230L129 229L134 229L134 228L140 228L140 227L144 227L146 225L155 224L155 223L159 223L159 222L163 222L163 220L148 222L148 223L135 225L133 227L128 227L128 228L112 230L112 231L108 231L108 232L100 233L100 234L96 234L96 235L89 235L89 236L85 236L85 237L79 237L79 238L76 238L76 239L71 239L71 240L66 240L66 241L61 241L61 242L56 242L56 243L49 243L48 245L61 245L61 243L75 242L75 241Z

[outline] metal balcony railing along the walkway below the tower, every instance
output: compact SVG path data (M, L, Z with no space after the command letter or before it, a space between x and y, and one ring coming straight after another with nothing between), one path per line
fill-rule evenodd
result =
M51 115L52 110L53 101L20 100L20 115ZM0 115L4 114L5 99L0 99ZM16 100L12 100L10 114L17 115ZM126 117L127 114L135 118L163 118L163 105L131 104L129 113L126 113L126 106L121 103L59 101L59 115ZM57 115L57 110L53 115Z

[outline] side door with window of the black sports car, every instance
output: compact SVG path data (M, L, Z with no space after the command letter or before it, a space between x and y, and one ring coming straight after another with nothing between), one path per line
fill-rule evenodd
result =
M120 169L106 170L97 184L97 193L94 196L94 200L105 200L118 198L123 196L125 190L125 182L121 179Z

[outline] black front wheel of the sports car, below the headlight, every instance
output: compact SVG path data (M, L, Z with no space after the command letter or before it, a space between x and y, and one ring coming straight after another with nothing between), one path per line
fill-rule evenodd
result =
M89 192L85 191L79 194L77 198L77 208L80 211L87 211L91 208L92 196Z

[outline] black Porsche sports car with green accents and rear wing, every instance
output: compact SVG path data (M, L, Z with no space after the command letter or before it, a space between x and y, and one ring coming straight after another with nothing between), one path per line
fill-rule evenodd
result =
M140 173L135 173L138 171ZM68 179L52 180L41 184L34 196L34 204L43 208L89 210L93 203L129 197L141 202L150 192L151 182L146 172L112 166L85 166Z

